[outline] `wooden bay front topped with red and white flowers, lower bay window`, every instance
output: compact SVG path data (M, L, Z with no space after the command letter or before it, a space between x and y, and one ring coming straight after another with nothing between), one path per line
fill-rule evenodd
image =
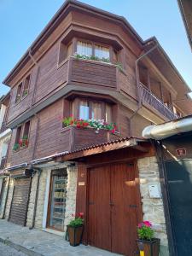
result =
M95 144L108 143L119 139L119 133L114 124L104 120L83 120L67 117L63 119L63 136L66 138L67 150L78 150Z

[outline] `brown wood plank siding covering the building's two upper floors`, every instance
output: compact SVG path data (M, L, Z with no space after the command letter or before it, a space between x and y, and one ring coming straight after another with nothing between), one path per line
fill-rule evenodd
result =
M163 96L164 102L170 106L177 97L174 88L181 85L177 83L176 73L174 83L171 83L172 78L170 83L164 78L164 73L160 73L161 67L158 70L155 68L155 58L153 63L141 61L139 68L144 71L138 72L137 76L136 61L148 49L145 49L145 43L125 19L74 1L67 2L57 15L5 79L5 83L11 87L7 122L13 128L8 154L9 166L115 139L116 136L107 131L101 131L97 136L95 131L89 129L63 129L61 120L72 114L72 101L78 97L95 99L102 102L102 105L108 104L119 137L140 137L146 125L163 122L167 116L160 113L161 108L155 112L150 104L141 104L142 109L138 111L137 79L146 83L148 90L151 86L155 96L161 97L161 100ZM110 63L101 59L93 61L75 57L79 41L98 44L99 47L104 45L108 49ZM69 45L71 49L68 53ZM158 52L156 54L159 54L158 60L162 63L162 55ZM167 68L167 61L164 62L167 76L171 67ZM28 75L28 95L15 103L18 86ZM174 88L171 84L174 84ZM179 88L181 90L185 87L182 84ZM183 110L181 108L184 114L186 105L181 104L184 106ZM75 113L78 109L75 109ZM102 109L102 118L106 118L105 114ZM28 147L13 152L17 127L28 120L31 122Z

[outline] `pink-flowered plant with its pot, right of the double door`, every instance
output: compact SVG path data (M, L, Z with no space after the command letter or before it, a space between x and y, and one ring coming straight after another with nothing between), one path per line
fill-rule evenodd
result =
M140 255L144 256L159 256L160 239L154 238L154 230L149 221L143 221L137 226L137 246Z

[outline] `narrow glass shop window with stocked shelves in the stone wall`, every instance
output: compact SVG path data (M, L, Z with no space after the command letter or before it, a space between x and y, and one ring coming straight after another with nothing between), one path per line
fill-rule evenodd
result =
M67 170L51 172L47 226L63 231L67 198Z

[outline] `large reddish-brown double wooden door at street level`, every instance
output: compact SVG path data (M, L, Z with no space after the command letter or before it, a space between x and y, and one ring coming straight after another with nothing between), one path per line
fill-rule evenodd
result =
M90 169L88 242L113 253L135 255L140 198L134 165Z

